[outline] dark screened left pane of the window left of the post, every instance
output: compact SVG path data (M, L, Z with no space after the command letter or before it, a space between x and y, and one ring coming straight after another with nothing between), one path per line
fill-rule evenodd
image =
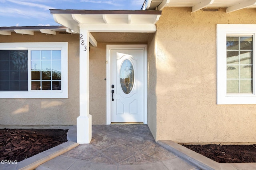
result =
M28 91L27 70L27 50L0 51L0 91Z

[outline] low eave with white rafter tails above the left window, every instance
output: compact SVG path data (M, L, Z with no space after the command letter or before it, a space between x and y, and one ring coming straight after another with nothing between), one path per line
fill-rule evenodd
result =
M68 32L72 33L71 30L64 26L22 26L22 27L0 27L0 35L10 36L11 32L16 32L17 34L28 34L34 35L34 32L41 32L44 34L55 35L57 32Z

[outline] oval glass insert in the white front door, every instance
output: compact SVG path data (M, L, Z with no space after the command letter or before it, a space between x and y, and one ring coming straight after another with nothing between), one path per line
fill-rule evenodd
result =
M122 90L125 94L129 94L134 84L134 69L130 60L123 61L119 75Z

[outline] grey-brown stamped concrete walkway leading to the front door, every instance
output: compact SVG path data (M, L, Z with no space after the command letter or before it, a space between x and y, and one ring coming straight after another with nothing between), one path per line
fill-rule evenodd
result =
M76 140L74 136L76 127L69 130L68 138ZM147 125L93 125L90 144L80 144L36 168L82 169L198 170L196 166L156 144Z

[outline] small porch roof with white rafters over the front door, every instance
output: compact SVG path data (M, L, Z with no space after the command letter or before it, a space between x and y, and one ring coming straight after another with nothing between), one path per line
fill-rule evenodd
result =
M89 32L156 32L161 11L156 10L50 10L54 20L75 33L80 26Z

